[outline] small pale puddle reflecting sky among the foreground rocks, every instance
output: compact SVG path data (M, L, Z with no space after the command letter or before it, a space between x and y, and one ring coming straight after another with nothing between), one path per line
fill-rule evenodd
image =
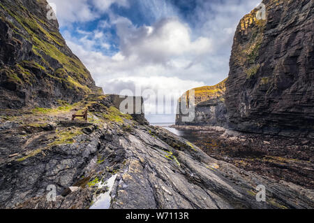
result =
M108 209L110 208L111 196L110 192L114 185L114 181L117 178L117 174L112 175L105 183L98 185L99 188L108 187L108 191L104 194L100 194L94 204L89 209Z

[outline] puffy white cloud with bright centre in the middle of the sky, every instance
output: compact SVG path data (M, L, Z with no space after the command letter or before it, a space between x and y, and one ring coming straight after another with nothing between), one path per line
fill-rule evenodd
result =
M121 38L121 54L137 62L173 64L180 58L188 66L194 57L208 54L212 43L209 38L199 37L191 41L188 24L177 18L163 19L152 27L135 28L130 22L117 22L117 33ZM181 60L182 62L182 60Z

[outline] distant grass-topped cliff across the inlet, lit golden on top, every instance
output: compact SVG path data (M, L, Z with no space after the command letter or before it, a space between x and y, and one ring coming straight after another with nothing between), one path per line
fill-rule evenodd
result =
M191 122L183 122L186 115L181 112L181 106L188 107L183 97L190 94L189 90L178 101L179 114L176 117L177 125L223 125L226 121L225 109L225 82L214 86L204 86L192 89L195 94L195 118ZM184 103L184 104L182 104Z

